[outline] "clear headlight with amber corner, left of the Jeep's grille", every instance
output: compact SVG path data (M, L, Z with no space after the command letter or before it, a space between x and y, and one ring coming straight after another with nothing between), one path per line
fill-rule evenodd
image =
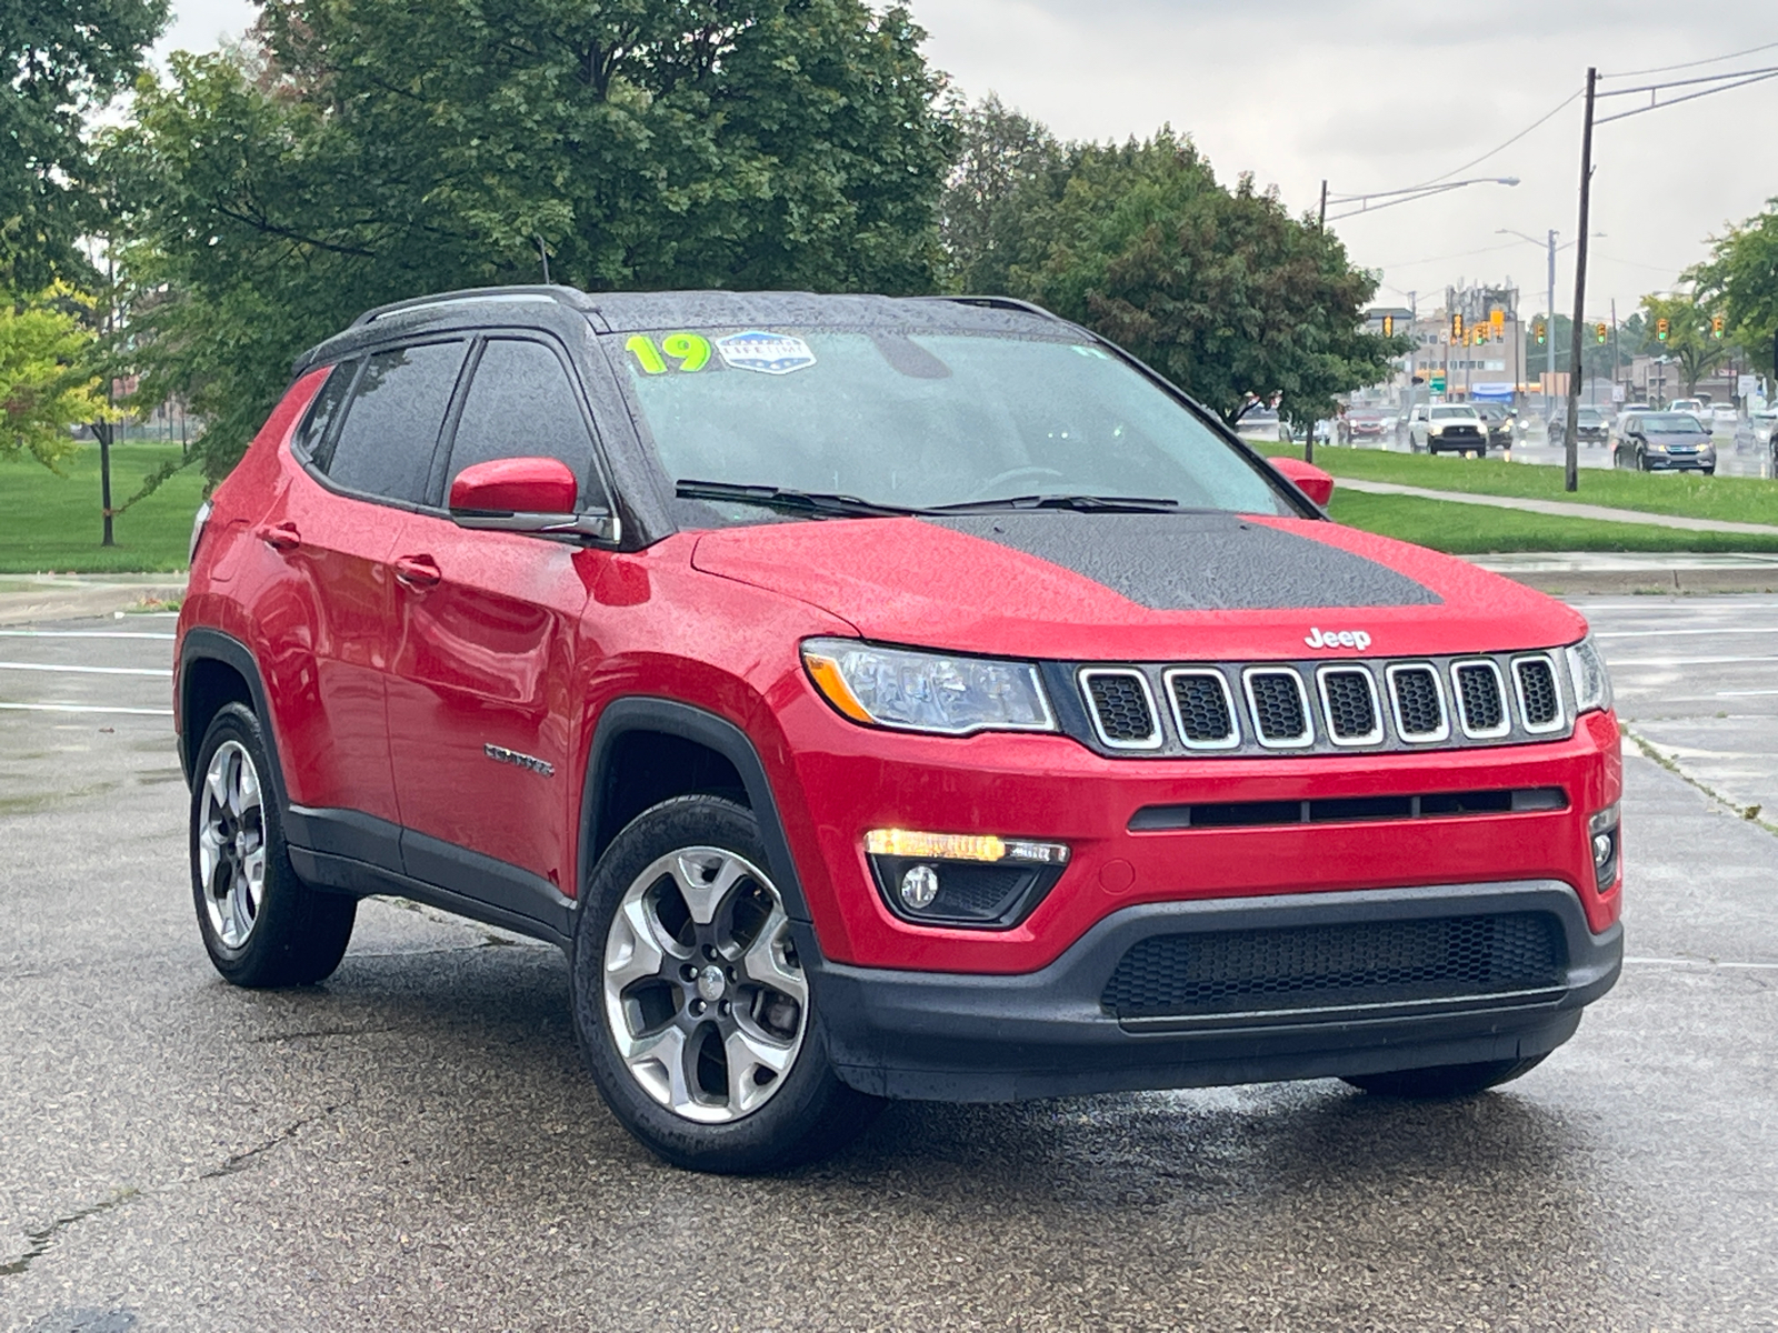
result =
M829 704L868 727L942 736L1056 729L1031 663L813 638L802 665Z

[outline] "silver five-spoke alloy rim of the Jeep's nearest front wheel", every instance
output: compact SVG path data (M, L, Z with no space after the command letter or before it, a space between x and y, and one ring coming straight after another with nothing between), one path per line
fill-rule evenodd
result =
M612 914L603 978L619 1059L685 1120L757 1111L802 1050L809 986L784 899L733 851L683 848L644 869Z

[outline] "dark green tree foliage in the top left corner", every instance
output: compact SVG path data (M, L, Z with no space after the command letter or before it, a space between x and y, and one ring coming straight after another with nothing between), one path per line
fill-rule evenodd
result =
M0 288L84 277L75 249L91 171L89 114L130 85L167 0L5 0L0 5Z

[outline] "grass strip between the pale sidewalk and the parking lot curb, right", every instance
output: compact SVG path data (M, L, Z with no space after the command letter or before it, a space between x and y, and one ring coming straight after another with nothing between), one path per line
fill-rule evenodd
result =
M1342 455L1344 457L1344 455ZM1316 453L1321 462L1321 453ZM1536 471L1520 467L1518 471ZM1659 480L1659 478L1652 478ZM1367 496L1334 487L1328 512L1341 523L1451 555L1494 551L1778 551L1778 537L1645 528L1639 523L1556 519L1510 508L1417 496Z

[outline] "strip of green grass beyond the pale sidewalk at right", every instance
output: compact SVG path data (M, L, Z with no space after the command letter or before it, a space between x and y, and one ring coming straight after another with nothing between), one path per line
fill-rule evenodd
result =
M1301 459L1301 444L1264 446L1266 453ZM1522 499L1570 499L1607 508L1639 508L1648 514L1680 514L1691 519L1726 519L1728 523L1769 523L1778 526L1778 482L1757 476L1700 476L1694 473L1630 473L1581 469L1581 489L1561 489L1563 469L1543 464L1506 462L1504 459L1430 457L1385 450L1317 448L1316 466L1334 476L1364 482L1421 485L1428 491L1463 491L1483 496L1518 496ZM1339 494L1335 491L1335 494ZM1502 512L1504 514L1504 512ZM1686 539L1691 540L1689 537ZM1550 547L1547 547L1550 549ZM1602 547L1586 547L1602 549ZM1629 547L1703 551L1721 547ZM1757 549L1757 547L1741 547Z

